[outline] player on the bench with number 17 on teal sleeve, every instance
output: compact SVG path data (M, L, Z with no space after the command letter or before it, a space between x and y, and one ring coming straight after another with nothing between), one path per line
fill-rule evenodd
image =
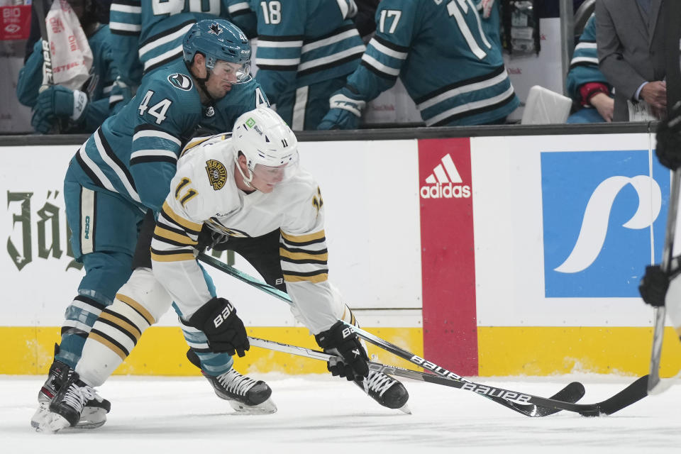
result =
M382 0L375 17L376 35L319 129L357 128L397 77L427 126L503 123L519 106L471 0Z

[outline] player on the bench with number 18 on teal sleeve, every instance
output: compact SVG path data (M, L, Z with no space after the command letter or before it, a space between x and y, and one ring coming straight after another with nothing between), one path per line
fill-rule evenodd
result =
M258 15L255 78L294 131L315 129L365 50L354 0L248 0ZM242 18L235 16L240 25Z

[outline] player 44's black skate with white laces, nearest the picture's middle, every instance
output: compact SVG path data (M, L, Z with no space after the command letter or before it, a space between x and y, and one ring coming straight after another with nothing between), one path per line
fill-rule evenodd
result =
M201 361L191 348L187 351L187 359L201 369ZM217 377L201 370L201 375L213 386L215 394L225 399L240 414L270 414L277 411L277 406L270 399L272 389L262 380L245 377L234 369Z

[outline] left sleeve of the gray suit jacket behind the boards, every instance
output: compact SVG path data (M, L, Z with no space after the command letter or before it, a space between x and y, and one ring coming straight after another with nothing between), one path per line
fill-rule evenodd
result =
M636 90L646 79L624 60L621 40L603 1L596 2L596 35L600 70L616 92L633 99Z

